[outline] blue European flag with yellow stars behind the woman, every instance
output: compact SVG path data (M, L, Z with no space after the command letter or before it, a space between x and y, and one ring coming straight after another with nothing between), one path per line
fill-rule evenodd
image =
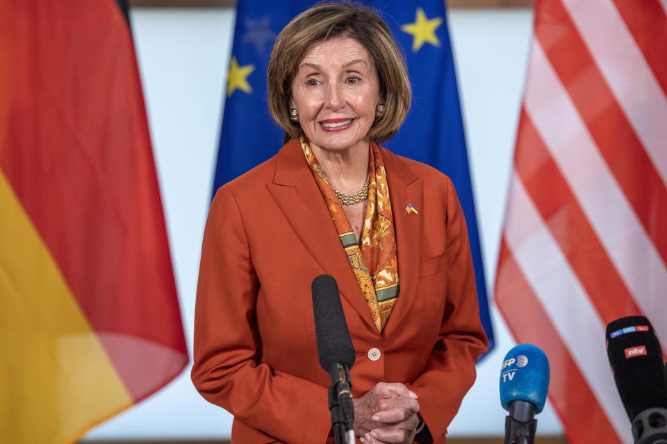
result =
M408 117L397 135L383 146L430 164L452 178L466 215L479 315L491 350L493 330L445 2L363 3L379 12L402 46L413 88ZM313 4L315 1L306 0L238 0L214 191L272 157L282 146L283 129L272 119L266 103L266 69L273 42L283 26Z

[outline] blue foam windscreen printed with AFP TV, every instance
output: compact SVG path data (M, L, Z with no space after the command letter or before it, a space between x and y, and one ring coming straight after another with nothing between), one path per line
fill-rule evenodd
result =
M512 401L527 401L535 413L544 409L549 391L549 360L541 348L520 344L505 355L500 369L500 403L509 411Z

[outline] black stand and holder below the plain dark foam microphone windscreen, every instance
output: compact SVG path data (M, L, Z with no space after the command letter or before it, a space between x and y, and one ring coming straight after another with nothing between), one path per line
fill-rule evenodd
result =
M329 410L336 444L354 444L354 404L349 392L352 384L347 366L336 363L331 366L329 375L332 382L329 387Z

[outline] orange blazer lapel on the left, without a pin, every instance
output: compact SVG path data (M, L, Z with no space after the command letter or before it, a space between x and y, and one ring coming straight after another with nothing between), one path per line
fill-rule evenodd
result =
M324 273L336 278L340 295L359 312L368 327L377 332L336 234L336 225L298 141L291 140L279 151L274 180L267 187L308 252Z

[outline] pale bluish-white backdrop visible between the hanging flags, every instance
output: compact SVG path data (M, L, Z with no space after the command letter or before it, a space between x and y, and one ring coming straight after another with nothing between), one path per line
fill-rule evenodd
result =
M190 353L233 18L233 10L226 9L131 12ZM452 10L449 24L492 295L532 10ZM502 358L516 343L491 306L496 347L478 366L477 382L463 400L450 436L504 434L507 412L500 407L498 378ZM162 391L96 427L86 439L224 438L230 432L231 415L199 396L188 367ZM547 403L538 415L538 436L557 434L562 429Z

